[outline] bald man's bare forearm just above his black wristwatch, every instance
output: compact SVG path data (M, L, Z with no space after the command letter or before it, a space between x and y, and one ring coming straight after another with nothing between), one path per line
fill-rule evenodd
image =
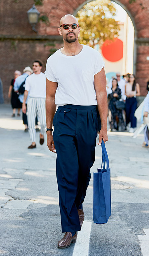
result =
M55 111L56 111L56 105L55 105L55 102L54 102L54 98L46 96L46 124L47 124L47 128L52 128Z

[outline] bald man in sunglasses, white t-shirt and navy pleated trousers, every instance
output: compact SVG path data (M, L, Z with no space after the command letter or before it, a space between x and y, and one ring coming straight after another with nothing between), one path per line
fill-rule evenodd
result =
M108 140L107 93L103 58L97 50L79 44L77 19L65 15L58 31L64 47L48 58L45 71L46 131L47 145L57 153L61 224L66 232L58 247L66 248L76 242L76 231L81 230L84 220L82 203L95 160L97 104L101 118L97 144Z

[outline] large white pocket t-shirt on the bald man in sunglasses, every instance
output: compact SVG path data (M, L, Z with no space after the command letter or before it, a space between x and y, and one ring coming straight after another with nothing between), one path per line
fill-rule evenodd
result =
M49 81L58 83L55 104L97 105L94 75L103 67L101 54L87 45L75 56L57 50L48 58L45 71Z

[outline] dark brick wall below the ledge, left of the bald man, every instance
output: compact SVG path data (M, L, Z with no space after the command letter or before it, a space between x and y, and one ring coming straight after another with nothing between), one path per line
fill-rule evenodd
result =
M50 48L53 47L45 46L46 43L47 41L0 41L0 77L3 82L5 103L9 102L8 90L15 70L23 72L25 66L32 66L32 61L34 59L41 59L44 63L42 72L45 71ZM62 45L60 43L55 43L55 47L61 48Z

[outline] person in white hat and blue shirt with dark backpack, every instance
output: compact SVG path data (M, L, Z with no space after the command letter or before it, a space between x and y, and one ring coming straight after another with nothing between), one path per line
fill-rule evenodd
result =
M18 98L21 103L23 103L23 99L24 99L25 79L27 76L31 75L32 73L33 73L33 71L29 66L25 67L25 69L23 70L23 75L18 76L15 80L14 91L19 94ZM27 100L28 100L28 98L26 99L26 104L27 104ZM25 125L25 131L28 131L28 123L27 123L26 113L23 113L23 124Z

